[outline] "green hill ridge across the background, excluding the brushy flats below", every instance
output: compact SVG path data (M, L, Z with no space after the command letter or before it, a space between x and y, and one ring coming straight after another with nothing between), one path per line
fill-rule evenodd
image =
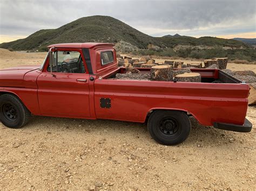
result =
M214 37L174 36L151 37L133 27L109 16L91 16L79 18L58 29L40 30L25 39L0 44L0 48L12 48L15 51L46 51L47 46L57 43L104 42L114 43L130 49L173 48L177 45L220 46L231 48L250 48L237 40Z

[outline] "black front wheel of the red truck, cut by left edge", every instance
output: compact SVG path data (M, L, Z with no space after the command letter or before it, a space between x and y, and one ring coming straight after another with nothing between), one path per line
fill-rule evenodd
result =
M28 123L30 112L14 95L0 96L0 121L8 128L21 128Z

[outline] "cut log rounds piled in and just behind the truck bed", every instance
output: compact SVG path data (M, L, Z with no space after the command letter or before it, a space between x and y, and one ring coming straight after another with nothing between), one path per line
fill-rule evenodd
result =
M152 81L181 81L181 82L201 82L199 73L192 73L184 62L165 61L156 63L156 60L149 57L132 59L130 56L117 55L118 66L126 68L126 73L116 74L115 79L125 80L152 80ZM200 67L201 63L199 66ZM194 65L193 65L194 67ZM196 68L195 67L195 68ZM150 73L141 73L136 68L151 68ZM173 69L179 68L179 69ZM200 67L201 68L201 67Z

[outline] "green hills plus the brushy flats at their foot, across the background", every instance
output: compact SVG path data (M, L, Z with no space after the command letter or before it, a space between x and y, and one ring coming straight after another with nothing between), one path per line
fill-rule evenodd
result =
M232 55L234 59L256 59L253 47L242 41L214 37L194 38L179 34L151 37L109 16L79 18L58 29L40 30L25 39L2 43L0 48L14 49L15 51L47 51L46 47L51 44L85 42L119 44L120 46L131 47L130 49L143 54L182 57L192 55L195 58L204 58L206 57L204 52L210 52L207 54L208 56L218 56L218 52L221 52L221 55ZM178 45L181 46L181 49L177 51ZM220 51L215 51L215 54L212 54L211 51L207 50L209 47ZM223 47L227 47L229 50Z

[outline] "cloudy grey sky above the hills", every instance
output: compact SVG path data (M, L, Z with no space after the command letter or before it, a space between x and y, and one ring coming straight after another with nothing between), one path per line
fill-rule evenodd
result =
M153 37L256 38L255 0L0 0L0 43L106 15Z

